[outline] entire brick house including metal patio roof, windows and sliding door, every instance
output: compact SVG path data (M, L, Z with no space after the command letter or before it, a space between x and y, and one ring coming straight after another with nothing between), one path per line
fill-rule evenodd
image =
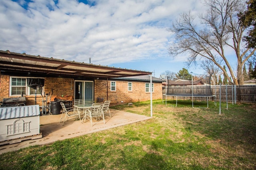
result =
M85 101L111 100L111 105L150 100L151 72L0 51L0 101L26 97L26 105L42 105L46 94ZM44 86L30 88L27 78ZM152 78L152 99L162 98L162 80ZM37 92L36 92L37 91ZM42 95L41 93L42 92Z

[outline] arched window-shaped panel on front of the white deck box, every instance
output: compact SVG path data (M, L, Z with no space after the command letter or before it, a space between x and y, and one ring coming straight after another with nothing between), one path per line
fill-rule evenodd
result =
M29 122L24 122L22 119L14 121L13 124L7 125L7 136L17 135L29 132Z

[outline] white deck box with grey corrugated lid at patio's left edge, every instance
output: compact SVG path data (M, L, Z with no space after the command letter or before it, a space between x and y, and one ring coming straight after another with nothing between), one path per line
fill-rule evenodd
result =
M39 105L0 107L0 145L38 138L42 138Z

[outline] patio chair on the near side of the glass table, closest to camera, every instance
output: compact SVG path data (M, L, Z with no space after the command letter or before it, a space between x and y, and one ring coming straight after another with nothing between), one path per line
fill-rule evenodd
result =
M94 103L90 109L86 109L85 121L86 119L90 120L91 126L92 124L103 122L105 124L105 118L103 113L103 103ZM96 118L96 120L103 119L103 121L93 122L92 119Z

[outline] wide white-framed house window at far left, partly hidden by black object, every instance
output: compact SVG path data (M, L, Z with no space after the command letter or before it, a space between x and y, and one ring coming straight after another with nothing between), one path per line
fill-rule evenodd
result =
M34 90L28 87L26 77L10 77L10 96L39 95L42 89L40 87L39 90Z

